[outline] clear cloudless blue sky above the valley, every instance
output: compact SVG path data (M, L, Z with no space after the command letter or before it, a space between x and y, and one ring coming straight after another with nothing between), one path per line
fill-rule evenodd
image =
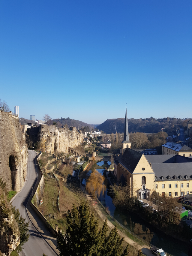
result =
M191 0L0 2L0 98L20 117L191 117Z

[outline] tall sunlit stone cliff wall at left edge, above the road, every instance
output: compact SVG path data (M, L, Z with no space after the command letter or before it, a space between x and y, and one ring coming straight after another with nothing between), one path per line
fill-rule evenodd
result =
M21 190L27 173L27 156L18 117L0 111L0 176L9 191Z

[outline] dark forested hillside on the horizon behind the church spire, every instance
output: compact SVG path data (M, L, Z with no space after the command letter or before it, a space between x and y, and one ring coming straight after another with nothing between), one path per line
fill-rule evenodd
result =
M187 127L187 122L189 119L178 119L178 118L162 118L155 119L153 117L150 118L140 118L140 119L128 119L129 132L160 132L161 128L165 128L165 132L175 131L176 128L179 127ZM99 130L102 130L106 133L115 133L124 132L125 128L125 118L117 118L117 119L107 119L101 125L97 127Z

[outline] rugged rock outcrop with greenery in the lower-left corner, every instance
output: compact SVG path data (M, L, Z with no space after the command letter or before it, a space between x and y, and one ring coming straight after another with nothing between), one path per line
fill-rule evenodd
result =
M9 256L20 244L18 224L11 211L10 203L0 188L0 250L2 256Z

